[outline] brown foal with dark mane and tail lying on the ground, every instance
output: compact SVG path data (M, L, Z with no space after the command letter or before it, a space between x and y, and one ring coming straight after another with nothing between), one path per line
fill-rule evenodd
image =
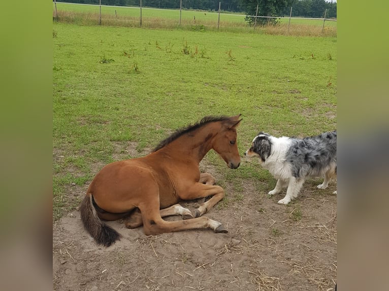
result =
M224 226L207 217L224 197L209 173L200 173L199 163L213 149L229 168L240 164L236 127L240 115L205 117L199 123L177 130L161 141L145 157L113 162L96 174L81 203L81 220L96 242L111 245L120 235L101 220L125 218L128 228L143 225L146 235L210 228L227 232ZM181 200L211 198L200 204L193 217ZM183 220L168 222L168 215Z

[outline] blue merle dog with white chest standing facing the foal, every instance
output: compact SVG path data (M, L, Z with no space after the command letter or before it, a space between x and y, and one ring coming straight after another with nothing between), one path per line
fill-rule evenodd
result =
M330 178L336 177L336 130L305 138L277 138L261 131L244 154L258 157L260 164L278 179L269 195L287 187L286 196L278 201L287 204L298 196L307 177L324 175L319 189L326 189Z

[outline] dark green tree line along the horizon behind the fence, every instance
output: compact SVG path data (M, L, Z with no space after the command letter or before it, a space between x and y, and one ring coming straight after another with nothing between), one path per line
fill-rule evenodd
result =
M326 0L181 0L183 9L218 11L219 2L222 11L240 12L255 15L258 6L258 16L283 17L289 16L290 7L294 17L336 18L336 2ZM99 0L59 0L59 2L99 5ZM139 7L140 0L101 0L102 5ZM179 9L180 0L142 0L142 7ZM252 17L246 17L253 21ZM277 20L260 18L263 23ZM258 21L257 21L258 23ZM261 23L260 23L261 24Z

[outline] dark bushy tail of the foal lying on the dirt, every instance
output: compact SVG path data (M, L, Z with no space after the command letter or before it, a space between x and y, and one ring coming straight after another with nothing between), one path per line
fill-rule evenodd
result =
M80 205L81 221L87 232L98 244L110 246L120 238L120 234L103 223L92 204L92 195L87 193Z

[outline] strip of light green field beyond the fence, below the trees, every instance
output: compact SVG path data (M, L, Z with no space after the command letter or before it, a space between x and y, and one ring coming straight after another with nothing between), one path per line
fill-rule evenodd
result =
M60 22L93 25L99 23L100 7L96 5L75 5L57 3L58 20ZM53 16L55 16L53 4ZM181 28L217 30L219 15L217 12L182 10ZM219 30L253 31L253 27L245 22L245 15L236 13L220 13ZM180 11L169 9L142 8L142 27L146 28L178 28ZM289 33L296 35L336 36L336 21L314 19L280 18L276 27L256 27L257 32L272 34ZM102 24L112 26L140 26L140 9L135 7L102 6Z

